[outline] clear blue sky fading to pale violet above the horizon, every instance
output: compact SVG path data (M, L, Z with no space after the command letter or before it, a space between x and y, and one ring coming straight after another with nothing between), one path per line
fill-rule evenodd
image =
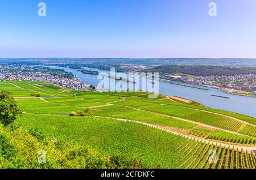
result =
M1 0L0 58L25 57L256 58L256 1Z

